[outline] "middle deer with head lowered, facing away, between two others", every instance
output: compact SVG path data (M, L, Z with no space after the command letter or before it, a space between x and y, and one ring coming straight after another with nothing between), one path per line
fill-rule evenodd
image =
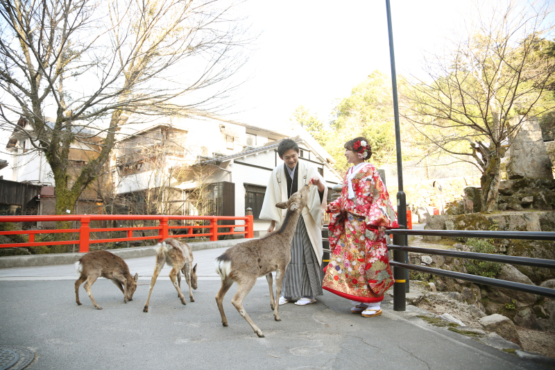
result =
M158 243L154 250L156 252L156 263L143 312L148 312L148 304L151 301L152 289L158 275L160 275L160 271L162 271L162 267L164 267L164 262L167 263L168 266L171 266L169 278L178 291L178 298L180 298L181 303L187 305L185 296L181 292L181 272L185 275L185 281L187 285L189 285L189 300L194 302L195 298L192 289L196 290L197 288L196 264L193 267L193 252L191 248L189 248L189 245L177 239L168 238Z

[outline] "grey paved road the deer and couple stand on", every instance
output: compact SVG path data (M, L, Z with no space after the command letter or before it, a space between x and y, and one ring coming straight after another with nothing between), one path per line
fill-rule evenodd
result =
M171 283L159 280L148 313L142 308L153 257L127 260L141 276L134 301L124 304L108 280L93 285L103 310L93 308L83 288L83 305L76 305L72 265L0 269L0 344L30 348L36 357L28 369L542 368L427 326L417 312L393 312L391 303L384 303L382 317L365 319L351 314L344 299L326 292L313 305L282 305L282 321L276 322L265 279L257 281L245 308L266 337L257 337L231 305L234 287L225 297L229 326L224 328L214 302L219 278L212 271L214 257L222 251L195 253L195 302L181 305Z

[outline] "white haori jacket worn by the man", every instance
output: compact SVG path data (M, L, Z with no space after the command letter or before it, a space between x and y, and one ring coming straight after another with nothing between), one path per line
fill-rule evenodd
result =
M260 219L268 221L275 221L275 228L280 228L287 210L277 208L276 203L284 202L289 199L287 196L287 178L284 173L285 164L278 165L273 169L270 179L268 180L268 187L266 187L266 194L264 195L264 203L262 203L262 210L260 211ZM297 162L299 167L297 190L309 183L310 179L318 176L324 184L324 198L320 203L320 195L318 194L318 187L311 186L308 194L307 206L302 209L302 219L305 221L308 236L314 253L318 258L318 263L322 264L322 227L324 225L325 206L327 199L327 184L323 177L318 174L307 162L299 160Z

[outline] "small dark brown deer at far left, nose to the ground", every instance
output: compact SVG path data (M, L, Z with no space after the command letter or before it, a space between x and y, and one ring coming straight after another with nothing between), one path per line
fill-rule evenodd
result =
M75 301L81 305L79 301L79 287L83 281L85 283L85 291L91 298L94 307L102 310L101 306L96 303L94 296L92 296L91 286L99 277L107 278L119 287L123 293L123 303L133 301L133 293L137 289L138 274L131 277L129 274L129 267L126 262L108 251L92 251L75 262L75 271L80 274L79 278L75 280Z

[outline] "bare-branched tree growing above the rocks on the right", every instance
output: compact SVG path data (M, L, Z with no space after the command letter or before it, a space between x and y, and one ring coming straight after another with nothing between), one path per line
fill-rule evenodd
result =
M422 144L466 158L481 170L484 211L495 207L511 134L527 117L554 108L546 94L554 60L541 52L547 45L542 37L553 30L547 24L550 12L547 1L504 1L489 9L477 4L466 33L443 53L427 56L427 81L413 77L403 89L402 116L424 137Z

